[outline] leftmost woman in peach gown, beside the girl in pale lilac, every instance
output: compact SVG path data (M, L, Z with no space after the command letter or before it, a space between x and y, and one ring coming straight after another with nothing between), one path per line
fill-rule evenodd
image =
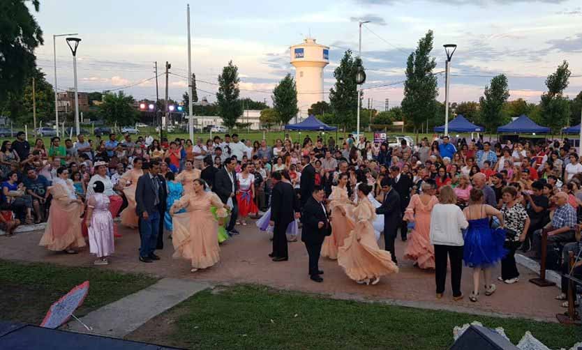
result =
M66 167L57 169L57 176L50 187L52 202L47 227L38 245L75 254L75 249L87 245L81 231L83 202L75 195L75 186L68 178Z

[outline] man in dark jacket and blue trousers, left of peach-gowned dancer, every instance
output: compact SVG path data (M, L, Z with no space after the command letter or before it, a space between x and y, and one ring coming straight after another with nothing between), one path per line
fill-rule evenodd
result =
M146 172L137 180L135 190L135 213L140 218L140 261L151 263L159 260L154 250L158 244L160 230L160 211L165 202L160 176L160 163L156 160L150 162L149 172Z

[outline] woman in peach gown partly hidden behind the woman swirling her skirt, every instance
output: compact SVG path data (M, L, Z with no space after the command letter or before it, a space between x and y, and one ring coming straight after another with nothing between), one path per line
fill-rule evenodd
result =
M331 188L328 208L331 211L331 236L325 237L321 256L335 260L338 259L338 248L354 228L354 222L350 220L354 204L348 197L348 174L338 176L338 185Z

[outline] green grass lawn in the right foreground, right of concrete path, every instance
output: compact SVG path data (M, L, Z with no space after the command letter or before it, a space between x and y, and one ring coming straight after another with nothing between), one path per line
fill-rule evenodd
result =
M191 349L447 349L454 326L472 321L505 328L514 344L526 330L552 349L580 340L579 327L334 300L259 286L203 291L161 317L171 320L157 324L172 324L163 338Z

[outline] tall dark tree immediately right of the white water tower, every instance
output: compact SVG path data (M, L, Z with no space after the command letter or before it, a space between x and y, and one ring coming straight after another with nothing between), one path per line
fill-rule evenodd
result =
M348 50L334 70L336 84L329 89L329 104L336 116L334 125L344 125L347 128L355 124L358 108L356 73L359 66L362 66L361 59L352 56L352 50Z

